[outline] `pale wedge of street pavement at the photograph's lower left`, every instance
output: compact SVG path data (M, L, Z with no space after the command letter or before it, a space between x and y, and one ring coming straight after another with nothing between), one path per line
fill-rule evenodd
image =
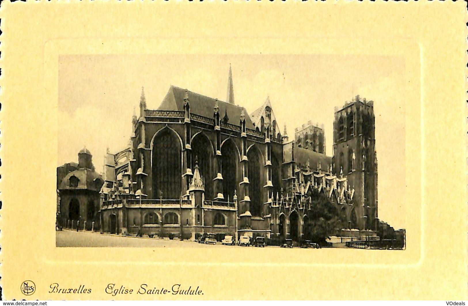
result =
M57 247L139 247L139 248L238 248L233 246L206 245L189 240L165 240L158 238L129 237L76 232L71 230L56 231Z

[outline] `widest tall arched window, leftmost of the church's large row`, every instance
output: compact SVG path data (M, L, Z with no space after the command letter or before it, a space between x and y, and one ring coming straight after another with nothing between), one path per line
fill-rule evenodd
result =
M180 141L165 129L153 144L153 195L155 198L178 199L181 194L182 165Z

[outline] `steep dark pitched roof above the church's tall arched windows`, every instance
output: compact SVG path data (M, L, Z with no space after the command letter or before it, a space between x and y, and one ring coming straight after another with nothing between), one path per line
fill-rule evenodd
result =
M215 99L194 93L190 90L187 91L190 103L190 113L197 114L200 116L212 118L213 109L215 105ZM183 110L183 96L185 95L185 89L171 85L168 93L158 107L160 110ZM219 117L223 118L227 112L229 117L228 123L239 125L241 121L242 107L231 103L218 100L219 105ZM245 125L249 129L255 129L254 124L250 120L249 115L245 114Z

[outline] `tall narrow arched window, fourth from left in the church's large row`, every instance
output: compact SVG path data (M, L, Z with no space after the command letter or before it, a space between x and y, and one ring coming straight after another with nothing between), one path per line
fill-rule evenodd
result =
M249 197L250 197L250 213L252 216L260 217L262 212L262 166L260 152L254 146L247 153L249 159Z

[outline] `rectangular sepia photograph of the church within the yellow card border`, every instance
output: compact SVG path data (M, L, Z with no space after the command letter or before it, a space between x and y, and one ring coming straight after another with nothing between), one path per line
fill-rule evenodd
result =
M57 247L404 249L404 65L60 57Z

